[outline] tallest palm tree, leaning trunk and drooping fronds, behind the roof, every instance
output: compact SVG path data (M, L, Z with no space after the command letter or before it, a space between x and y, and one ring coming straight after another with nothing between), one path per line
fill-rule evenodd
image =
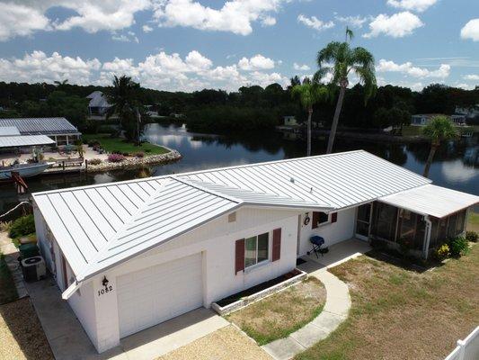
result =
M334 137L340 119L344 93L349 85L348 76L355 73L359 81L364 84L365 102L376 92L376 75L374 57L364 48L350 48L350 40L354 37L353 32L346 28L346 39L344 42L331 41L324 49L317 53L317 65L319 70L315 73L315 80L326 75L332 77L331 84L340 86L340 94L336 110L334 112L333 124L328 139L326 153L333 151Z

